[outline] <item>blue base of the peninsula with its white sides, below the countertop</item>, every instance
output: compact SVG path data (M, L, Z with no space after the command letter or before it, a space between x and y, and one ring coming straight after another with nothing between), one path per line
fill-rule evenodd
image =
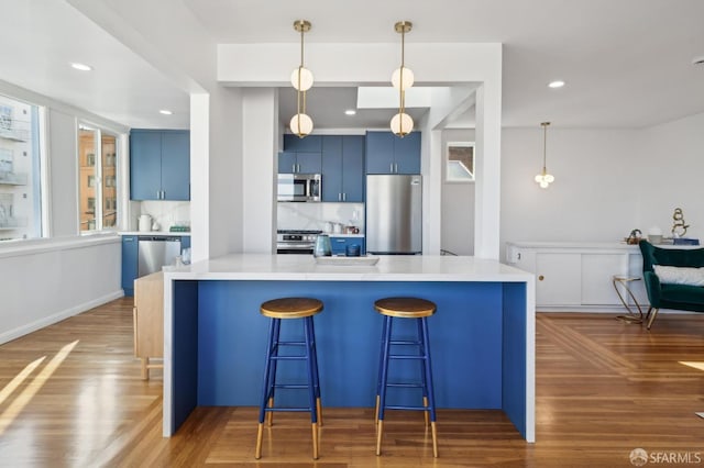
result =
M527 314L526 288L526 282L491 281L174 279L165 322L170 326L165 336L165 356L170 357L170 365L165 361L165 392L170 392L164 400L169 404L165 435L197 405L260 403L268 319L258 308L282 297L312 297L324 303L315 317L323 405L373 406L382 327L373 303L415 296L438 305L429 320L438 408L503 410L532 442L534 395L527 394L532 392L532 355L527 354L532 343L527 343L527 333L534 317ZM282 333L299 336L299 321L290 322ZM403 333L404 325L414 325L403 322L397 321L395 330ZM297 365L282 366L280 381L300 379L304 372ZM414 380L417 370L397 366L393 377ZM305 393L296 393L282 392L279 401L305 399ZM404 404L409 399L416 403L420 395L405 390L388 398Z

